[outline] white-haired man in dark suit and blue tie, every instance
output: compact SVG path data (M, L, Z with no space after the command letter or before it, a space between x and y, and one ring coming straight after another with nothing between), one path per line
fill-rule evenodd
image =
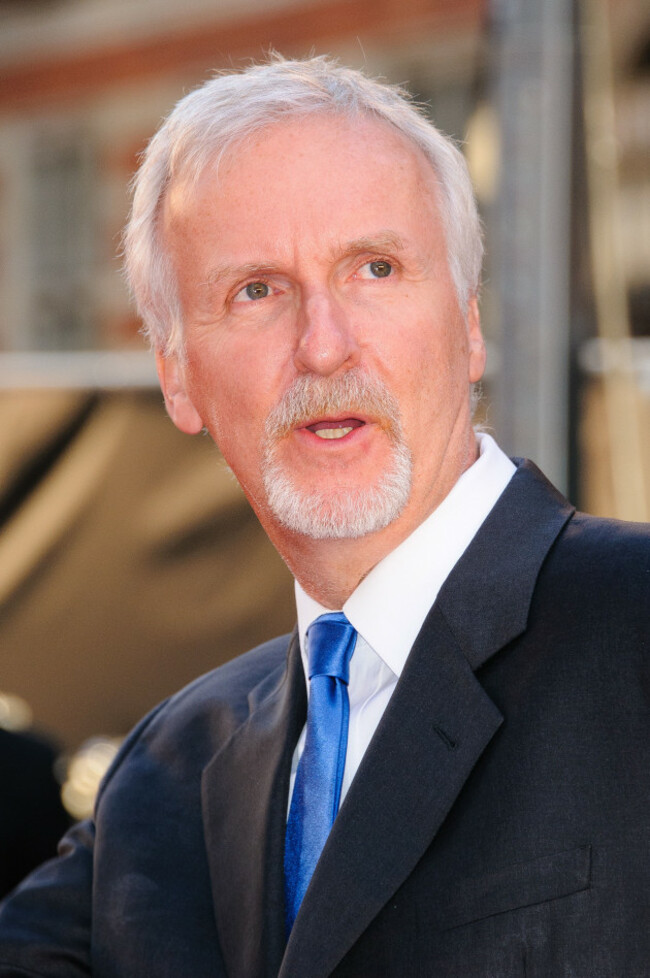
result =
M0 975L647 974L650 540L473 432L461 156L400 93L276 59L177 106L126 255L169 414L298 628L134 731L5 904Z

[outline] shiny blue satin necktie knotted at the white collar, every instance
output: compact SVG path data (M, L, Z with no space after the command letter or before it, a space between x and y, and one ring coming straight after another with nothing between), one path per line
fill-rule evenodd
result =
M284 851L287 934L339 810L348 745L347 686L356 640L357 633L340 612L321 615L307 630L307 733L296 771Z

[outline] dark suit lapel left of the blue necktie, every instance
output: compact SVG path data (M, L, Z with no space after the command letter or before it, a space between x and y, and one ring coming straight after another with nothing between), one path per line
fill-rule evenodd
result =
M283 853L291 757L305 722L296 635L288 666L254 690L251 714L203 774L203 818L229 978L270 978L285 946Z

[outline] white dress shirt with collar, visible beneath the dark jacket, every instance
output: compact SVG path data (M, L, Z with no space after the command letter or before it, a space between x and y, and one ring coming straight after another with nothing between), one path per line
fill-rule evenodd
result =
M340 609L358 633L350 662L350 720L341 802L431 605L515 472L490 435L479 433L477 439L480 455L476 462L424 523L373 567ZM316 618L332 609L311 598L297 581L295 587L309 695L305 635ZM303 729L294 751L289 799L304 743Z

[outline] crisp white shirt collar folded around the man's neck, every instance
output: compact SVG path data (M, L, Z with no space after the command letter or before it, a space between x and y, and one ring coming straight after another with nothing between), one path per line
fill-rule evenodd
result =
M515 466L490 435L477 434L480 454L437 509L363 579L343 612L386 665L400 676L424 619ZM300 648L324 608L296 581Z

